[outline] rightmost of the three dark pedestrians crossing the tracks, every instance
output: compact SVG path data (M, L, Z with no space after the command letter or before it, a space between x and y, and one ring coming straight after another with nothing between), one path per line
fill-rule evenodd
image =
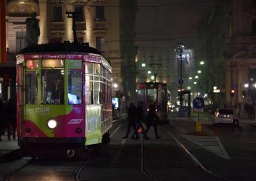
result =
M157 128L157 122L159 120L158 115L155 114L155 105L154 104L150 104L149 106L149 112L148 115L146 117L146 133L149 132L149 129L151 126L154 126L155 129L155 138L160 138L158 136L158 128Z

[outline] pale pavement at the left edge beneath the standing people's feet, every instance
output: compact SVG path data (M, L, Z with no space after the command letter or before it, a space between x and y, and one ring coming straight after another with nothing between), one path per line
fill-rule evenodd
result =
M11 140L8 141L7 135L1 135L1 141L0 141L0 157L3 154L7 154L10 151L18 149L18 142L17 140Z

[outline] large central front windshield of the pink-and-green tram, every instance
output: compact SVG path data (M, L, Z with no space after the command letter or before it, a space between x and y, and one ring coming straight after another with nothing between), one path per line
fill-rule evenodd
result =
M64 104L64 70L41 70L41 103Z

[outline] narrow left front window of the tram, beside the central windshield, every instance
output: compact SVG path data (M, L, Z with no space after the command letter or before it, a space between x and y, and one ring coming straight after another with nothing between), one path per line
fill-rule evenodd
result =
M37 71L26 71L26 88L25 88L25 103L27 104L37 104Z

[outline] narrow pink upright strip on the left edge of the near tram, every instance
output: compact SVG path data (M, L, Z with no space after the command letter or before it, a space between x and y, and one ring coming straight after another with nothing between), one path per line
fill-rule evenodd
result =
M21 121L23 120L23 112L24 112L24 71L22 64L17 65L17 136L21 137L22 129L21 129Z

